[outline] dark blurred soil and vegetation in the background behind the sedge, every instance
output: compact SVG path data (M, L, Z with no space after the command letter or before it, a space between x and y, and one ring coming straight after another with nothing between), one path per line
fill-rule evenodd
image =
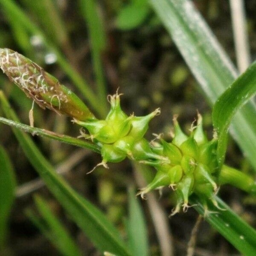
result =
M17 22L14 15L0 8L0 47L17 50L44 67L75 91L97 116L104 116L108 110L105 93L113 94L119 87L123 93L122 108L126 113L145 115L155 108L161 108L161 115L152 120L147 138L152 133L165 133L170 138L172 116L179 115L185 131L190 128L197 111L204 118L208 136L212 136L211 109L200 87L186 66L169 34L146 0L17 0L26 17L37 29L28 32ZM196 7L207 20L221 45L233 62L236 55L228 1L198 0ZM256 2L245 1L247 28L252 59L256 55ZM59 55L64 56L60 60ZM68 70L70 72L68 72ZM71 75L69 74L71 73ZM75 75L74 75L75 74ZM82 78L82 80L80 79ZM8 96L21 122L28 124L28 113L32 101L0 74L0 88ZM98 92L96 101L79 88L86 86ZM79 127L65 116L58 116L49 110L34 108L35 126L74 137ZM0 116L3 113L0 109ZM98 168L86 175L101 161L100 156L85 149L74 148L53 140L33 137L41 151L67 179L68 183L93 204L102 209L108 218L124 233L125 218L128 215L128 189L143 186L136 166L128 160L110 164L110 169ZM15 203L9 220L9 237L6 255L58 255L58 250L32 223L29 211L35 212L33 195L42 195L52 212L69 230L83 255L99 255L93 244L70 221L65 211L52 197L29 161L23 154L12 130L0 124L0 144L12 160L17 179ZM227 163L250 172L250 165L244 160L239 148L231 141ZM151 170L147 172L151 179ZM247 222L256 225L256 201L238 189L225 186L220 196ZM160 255L163 243L152 216L157 211L166 217L168 246L173 246L175 255L185 255L192 227L197 213L189 209L167 219L173 207L169 191L153 195L153 201L141 201L151 255ZM40 201L39 199L37 201ZM152 203L153 202L153 203ZM153 212L152 212L153 211ZM29 218L30 216L30 218ZM159 215L161 216L161 215ZM235 255L236 250L209 224L201 224L196 255Z

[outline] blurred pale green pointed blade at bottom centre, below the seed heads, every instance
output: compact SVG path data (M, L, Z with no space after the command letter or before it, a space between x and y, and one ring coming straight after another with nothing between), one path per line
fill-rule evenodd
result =
M145 217L143 209L134 193L134 189L129 189L127 233L132 255L148 256L149 245Z

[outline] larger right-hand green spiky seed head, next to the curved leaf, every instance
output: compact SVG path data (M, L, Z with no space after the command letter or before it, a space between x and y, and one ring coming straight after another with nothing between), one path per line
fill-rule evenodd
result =
M158 179L152 182L143 190L150 191L156 185L157 187L166 186L166 177L168 175L169 187L174 190L177 197L177 206L174 209L175 214L183 207L188 208L189 196L196 193L201 198L213 198L212 195L217 192L217 178L215 177L218 164L216 160L216 140L207 141L202 129L202 119L198 114L197 126L191 129L190 136L183 133L177 118L174 118L175 136L172 143L167 143L160 139L163 146L162 157L167 157L169 163L158 163L154 165L157 169ZM154 151L154 150L153 150ZM159 178L162 175L163 180ZM213 202L213 199L212 199ZM216 202L213 202L216 204Z

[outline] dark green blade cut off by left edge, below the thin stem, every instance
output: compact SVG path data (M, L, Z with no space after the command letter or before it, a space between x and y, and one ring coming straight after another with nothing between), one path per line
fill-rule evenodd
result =
M0 145L0 252L6 242L9 215L15 199L15 186L11 160Z

